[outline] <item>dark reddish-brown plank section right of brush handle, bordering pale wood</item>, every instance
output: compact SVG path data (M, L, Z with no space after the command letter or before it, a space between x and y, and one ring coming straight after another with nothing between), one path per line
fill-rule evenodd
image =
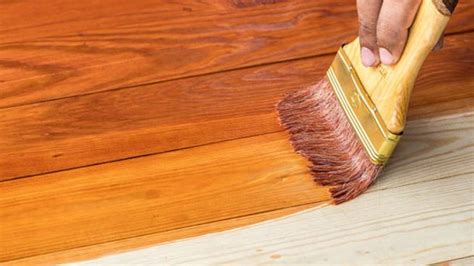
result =
M474 107L474 56L468 48L474 45L474 34L445 40L445 50L433 52L423 65L413 90L409 117L429 117L434 110L446 115ZM453 58L448 59L450 56Z

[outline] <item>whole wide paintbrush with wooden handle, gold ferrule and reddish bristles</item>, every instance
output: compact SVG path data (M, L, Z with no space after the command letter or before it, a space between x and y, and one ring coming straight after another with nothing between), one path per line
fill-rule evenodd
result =
M277 106L294 149L338 204L364 192L400 140L418 72L442 36L453 0L423 0L399 61L365 67L358 39L343 45L326 77Z

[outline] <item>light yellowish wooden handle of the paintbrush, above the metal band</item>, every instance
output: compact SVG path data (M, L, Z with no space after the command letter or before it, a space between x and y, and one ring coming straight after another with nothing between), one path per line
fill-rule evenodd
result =
M365 67L356 39L344 46L357 75L390 132L405 127L411 90L428 54L446 28L457 0L422 0L400 60L393 66Z

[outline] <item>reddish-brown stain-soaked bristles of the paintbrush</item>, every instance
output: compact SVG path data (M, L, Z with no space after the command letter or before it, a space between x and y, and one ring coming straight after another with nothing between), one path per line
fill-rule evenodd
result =
M336 204L367 190L382 170L368 158L327 79L288 95L277 109L294 149L310 162L315 181L331 186Z

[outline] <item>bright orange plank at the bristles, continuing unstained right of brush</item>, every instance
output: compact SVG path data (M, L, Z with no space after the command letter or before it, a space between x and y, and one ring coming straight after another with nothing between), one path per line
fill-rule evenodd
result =
M474 113L410 122L393 164L371 191L472 176L473 134ZM327 199L286 137L275 133L1 182L0 236L6 240L0 244L1 259L159 234ZM24 237L18 238L19 233ZM150 239L138 243L163 238ZM127 247L120 243L111 243L105 251ZM97 255L101 246L81 252L88 250Z

